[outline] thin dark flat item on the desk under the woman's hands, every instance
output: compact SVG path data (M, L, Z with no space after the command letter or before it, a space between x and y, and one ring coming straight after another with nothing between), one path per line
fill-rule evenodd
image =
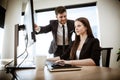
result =
M52 61L46 61L46 66L50 72L57 72L57 71L80 71L81 67L72 66L70 64L65 64L64 66L61 66L59 64L56 64Z

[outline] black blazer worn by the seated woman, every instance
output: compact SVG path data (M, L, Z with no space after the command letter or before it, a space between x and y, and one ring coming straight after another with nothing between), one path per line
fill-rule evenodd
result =
M61 57L62 59L69 58L72 44L69 46L69 49L66 51L66 53ZM97 38L87 38L81 49L79 59L92 58L96 65L99 66L100 50L101 48ZM76 57L74 59L76 59Z

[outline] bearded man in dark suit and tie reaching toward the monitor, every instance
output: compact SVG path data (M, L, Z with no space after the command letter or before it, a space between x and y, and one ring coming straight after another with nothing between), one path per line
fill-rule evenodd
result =
M35 24L35 31L37 34L52 31L53 40L49 48L49 53L53 53L54 57L62 57L70 42L72 41L71 36L74 32L74 21L67 20L67 12L63 6L57 7L55 9L55 14L57 20L51 20L50 24L47 26L39 27ZM65 40L63 38L64 35ZM67 56L64 59L67 59Z

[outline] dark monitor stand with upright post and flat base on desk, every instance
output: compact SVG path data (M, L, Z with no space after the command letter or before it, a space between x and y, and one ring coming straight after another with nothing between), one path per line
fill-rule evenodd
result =
M6 73L11 73L13 78L12 80L16 79L17 80L17 77L16 77L16 70L20 70L20 69L35 69L35 66L22 66L22 67L18 67L17 65L17 47L18 47L18 43L19 43L19 31L22 30L22 29L25 29L25 26L24 25L19 25L19 24L16 24L15 25L15 33L14 33L14 36L15 36L15 40L14 40L14 65L7 65L5 68L6 68Z

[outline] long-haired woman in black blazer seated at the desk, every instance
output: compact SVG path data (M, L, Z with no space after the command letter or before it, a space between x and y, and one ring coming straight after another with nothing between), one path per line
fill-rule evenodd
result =
M75 66L99 66L99 40L94 38L88 19L84 17L76 19L75 32L75 41L70 48L70 60L57 60L56 63Z

